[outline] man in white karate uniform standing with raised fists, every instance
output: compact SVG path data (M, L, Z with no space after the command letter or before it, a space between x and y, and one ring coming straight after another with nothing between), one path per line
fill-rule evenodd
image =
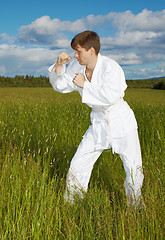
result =
M104 149L112 148L123 161L128 202L138 205L143 182L142 159L137 122L123 100L127 88L123 70L111 58L99 54L100 39L95 32L77 34L71 47L75 59L61 53L56 64L49 67L49 80L58 92L78 91L92 112L91 126L70 164L65 199L74 202L75 194L83 197L94 163Z

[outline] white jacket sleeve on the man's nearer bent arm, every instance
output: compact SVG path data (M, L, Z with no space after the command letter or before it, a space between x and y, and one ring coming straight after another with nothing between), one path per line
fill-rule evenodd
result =
M95 78L98 78L97 81ZM101 78L101 81L100 81ZM98 84L100 83L101 84ZM86 81L83 87L82 102L90 105L109 106L124 97L127 88L122 68L118 64L108 64L92 82Z

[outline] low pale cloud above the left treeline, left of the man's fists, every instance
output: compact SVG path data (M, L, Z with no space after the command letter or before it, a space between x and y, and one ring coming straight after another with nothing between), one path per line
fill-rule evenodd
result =
M56 61L59 50L0 45L0 75L47 75L48 66Z

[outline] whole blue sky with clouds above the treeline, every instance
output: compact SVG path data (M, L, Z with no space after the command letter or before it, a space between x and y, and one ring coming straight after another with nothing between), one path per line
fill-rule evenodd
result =
M165 76L164 0L1 1L0 75L45 75L84 30L101 38L126 79Z

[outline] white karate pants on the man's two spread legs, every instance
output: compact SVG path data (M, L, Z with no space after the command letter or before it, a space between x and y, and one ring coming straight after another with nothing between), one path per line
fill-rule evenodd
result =
M104 149L95 150L92 128L89 127L81 141L67 174L64 198L73 203L74 195L83 197L87 192L91 172L96 160ZM127 136L112 139L113 149L120 155L126 173L125 191L130 204L139 204L143 182L142 159L137 130Z

